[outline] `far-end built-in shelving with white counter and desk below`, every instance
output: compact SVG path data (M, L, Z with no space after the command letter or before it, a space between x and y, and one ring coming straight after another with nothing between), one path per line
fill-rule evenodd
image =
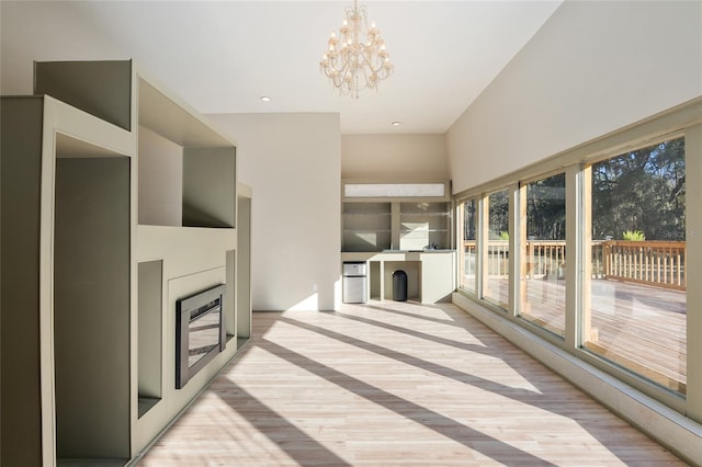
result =
M343 180L341 262L367 264L366 299L393 298L393 273L410 300L446 300L455 288L450 182Z

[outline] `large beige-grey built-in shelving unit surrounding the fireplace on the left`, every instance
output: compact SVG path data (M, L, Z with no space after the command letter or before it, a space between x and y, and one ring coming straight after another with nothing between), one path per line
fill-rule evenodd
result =
M2 464L124 465L250 337L251 191L129 60L37 62L35 92L0 118ZM176 303L218 284L227 342L179 389Z

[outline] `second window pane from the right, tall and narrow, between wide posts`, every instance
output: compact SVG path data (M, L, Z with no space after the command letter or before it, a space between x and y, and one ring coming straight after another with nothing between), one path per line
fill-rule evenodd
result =
M564 173L526 185L526 239L522 254L520 316L565 334L566 179Z

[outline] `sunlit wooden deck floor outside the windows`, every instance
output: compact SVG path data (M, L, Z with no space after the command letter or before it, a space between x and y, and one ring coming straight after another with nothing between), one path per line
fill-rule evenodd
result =
M492 278L507 303L507 278ZM523 317L555 333L565 329L565 281L526 280ZM650 285L592 280L588 350L669 389L686 392L686 293Z

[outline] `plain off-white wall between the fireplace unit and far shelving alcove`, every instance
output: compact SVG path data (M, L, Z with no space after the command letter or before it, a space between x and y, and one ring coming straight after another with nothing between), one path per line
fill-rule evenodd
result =
M340 306L339 115L208 115L237 141L238 179L252 187L254 310ZM314 291L315 284L318 292Z

